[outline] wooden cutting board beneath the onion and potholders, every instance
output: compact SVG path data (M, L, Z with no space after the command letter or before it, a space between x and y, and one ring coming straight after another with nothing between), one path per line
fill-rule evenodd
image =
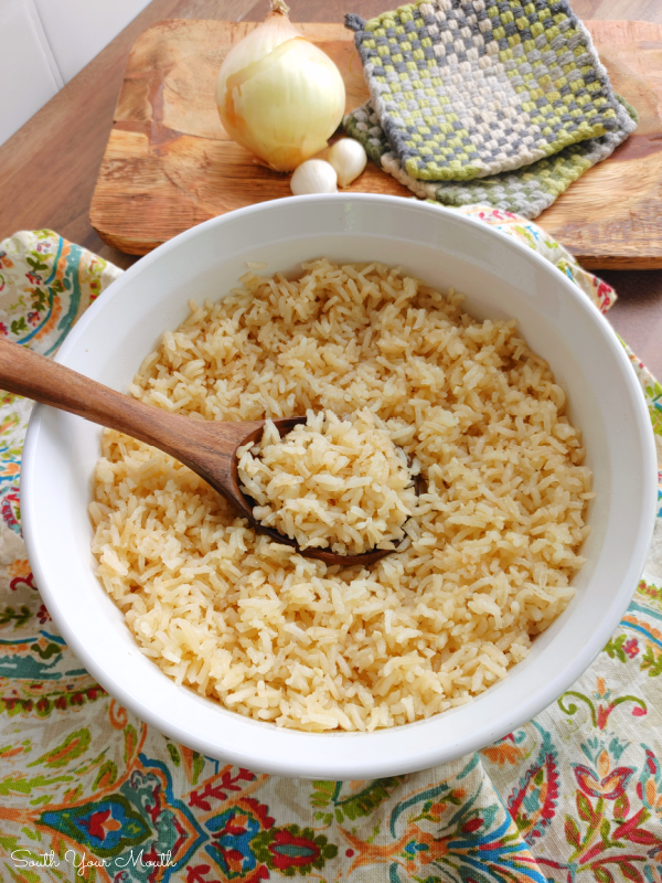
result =
M662 25L589 21L615 89L640 115L637 132L590 169L537 222L591 268L662 268ZM228 49L256 25L163 21L131 52L92 201L104 242L143 255L210 217L290 195L289 175L229 140L214 104ZM299 24L338 64L348 109L369 96L352 34ZM372 162L348 190L410 196Z

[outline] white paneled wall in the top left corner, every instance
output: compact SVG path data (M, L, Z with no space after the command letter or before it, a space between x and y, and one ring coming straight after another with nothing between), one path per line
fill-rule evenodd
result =
M0 0L0 145L150 0Z

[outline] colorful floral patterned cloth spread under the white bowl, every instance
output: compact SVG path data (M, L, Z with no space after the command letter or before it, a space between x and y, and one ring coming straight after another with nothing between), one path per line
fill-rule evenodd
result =
M613 301L534 224L463 211ZM118 275L55 233L18 234L0 243L0 331L52 353ZM631 359L660 442L662 387ZM21 539L29 412L0 394L0 880L662 882L662 526L605 650L531 723L415 775L282 779L161 736L65 646Z

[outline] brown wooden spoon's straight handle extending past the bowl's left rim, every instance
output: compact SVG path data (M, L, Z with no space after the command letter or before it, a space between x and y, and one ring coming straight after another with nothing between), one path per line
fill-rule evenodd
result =
M129 398L1 338L0 389L126 433L180 460L182 438L190 437L195 426L186 417Z

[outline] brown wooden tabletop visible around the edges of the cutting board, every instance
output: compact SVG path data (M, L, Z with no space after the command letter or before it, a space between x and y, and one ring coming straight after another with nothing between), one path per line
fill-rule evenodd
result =
M572 0L583 19L662 24L661 0ZM289 0L295 21L371 18L382 0ZM0 238L51 227L120 267L138 258L106 245L89 223L89 205L132 45L163 19L261 21L267 0L152 0L106 49L23 128L0 146ZM662 377L662 270L605 272L619 292L609 321Z

